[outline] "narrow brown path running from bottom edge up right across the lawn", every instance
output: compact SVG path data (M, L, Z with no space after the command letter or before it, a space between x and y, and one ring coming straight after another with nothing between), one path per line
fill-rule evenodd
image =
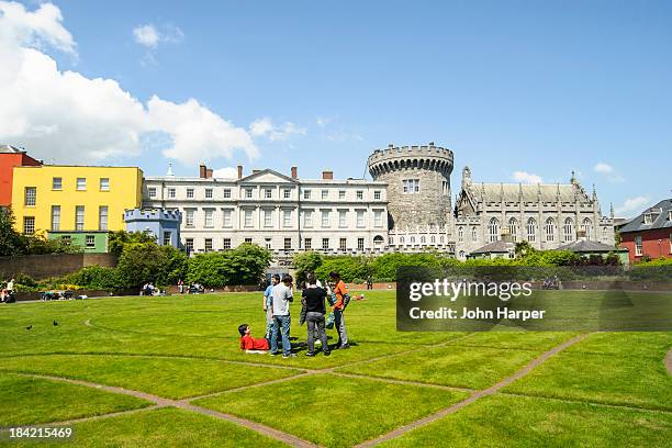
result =
M401 437L404 434L416 429L421 426L425 426L428 425L433 422L438 421L439 418L443 418L447 415L450 415L459 410L461 410L462 407L473 403L474 401L482 399L483 396L488 396L488 395L492 395L493 393L495 393L496 391L499 391L502 388L507 387L508 384L511 384L512 382L525 377L527 373L529 373L535 367L541 365L542 362L545 362L548 358L550 358L551 356L564 350L565 348L579 343L580 340L582 340L583 338L585 338L587 336L587 334L583 334L583 335L579 335L579 336L574 336L569 340L565 340L564 343L560 344L559 346L556 346L553 348L551 348L548 351L545 351L544 354L541 354L540 356L538 356L537 358L533 359L527 366L525 366L523 369L518 370L517 372L515 372L514 374L512 374L511 377L507 377L505 379L503 379L502 381L497 382L496 384L481 390L481 391L477 391L474 393L472 393L469 397L462 400L461 402L455 403L449 407L446 407L445 410L441 410L435 414L428 415L424 418L421 418L418 421L415 421L413 423L410 423L407 425L404 426L400 426L399 428L388 433L388 434L383 434L380 437L377 437L374 439L371 440L367 440L362 444L357 445L358 448L365 448L365 447L372 447L376 446L378 444L381 444L383 441L396 438L396 437Z

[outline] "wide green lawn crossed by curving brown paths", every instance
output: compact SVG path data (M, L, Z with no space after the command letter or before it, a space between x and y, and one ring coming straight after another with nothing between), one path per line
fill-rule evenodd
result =
M0 306L0 427L152 404L30 377L34 373L193 399L200 406L322 446L352 446L469 394L450 387L486 389L576 335L396 332L394 292L369 291L366 296L346 313L351 349L331 357L304 356L306 331L299 325L294 304L294 359L239 350L239 324L251 325L255 336L262 336L259 293ZM334 343L335 332L328 335ZM590 335L503 393L478 400L390 445L663 446L672 439L672 377L663 365L671 347L670 333ZM251 388L234 390L247 385ZM219 394L199 399L211 393ZM103 416L74 427L75 439L57 446L279 445L243 426L172 407ZM0 429L0 444L4 435Z

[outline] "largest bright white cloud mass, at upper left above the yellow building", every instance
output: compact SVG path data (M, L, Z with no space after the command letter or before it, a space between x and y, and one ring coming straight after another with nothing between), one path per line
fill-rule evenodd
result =
M166 134L164 155L183 164L259 154L251 136L190 99L153 97L146 104L112 79L61 71L44 53L76 55L76 43L51 3L26 11L0 1L0 141L37 158L90 163L138 155L143 138Z

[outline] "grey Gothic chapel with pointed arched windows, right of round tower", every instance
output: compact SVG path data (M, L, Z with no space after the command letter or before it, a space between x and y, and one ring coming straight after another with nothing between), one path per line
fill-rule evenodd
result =
M603 216L594 188L589 195L573 173L569 183L475 183L464 167L453 227L458 258L503 233L544 250L575 242L579 232L587 240L615 245L613 212Z

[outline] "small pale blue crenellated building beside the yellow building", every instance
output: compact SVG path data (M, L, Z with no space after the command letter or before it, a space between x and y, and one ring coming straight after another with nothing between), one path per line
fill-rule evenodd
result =
M156 238L157 244L180 247L180 223L178 210L133 209L124 211L126 232L143 232Z

